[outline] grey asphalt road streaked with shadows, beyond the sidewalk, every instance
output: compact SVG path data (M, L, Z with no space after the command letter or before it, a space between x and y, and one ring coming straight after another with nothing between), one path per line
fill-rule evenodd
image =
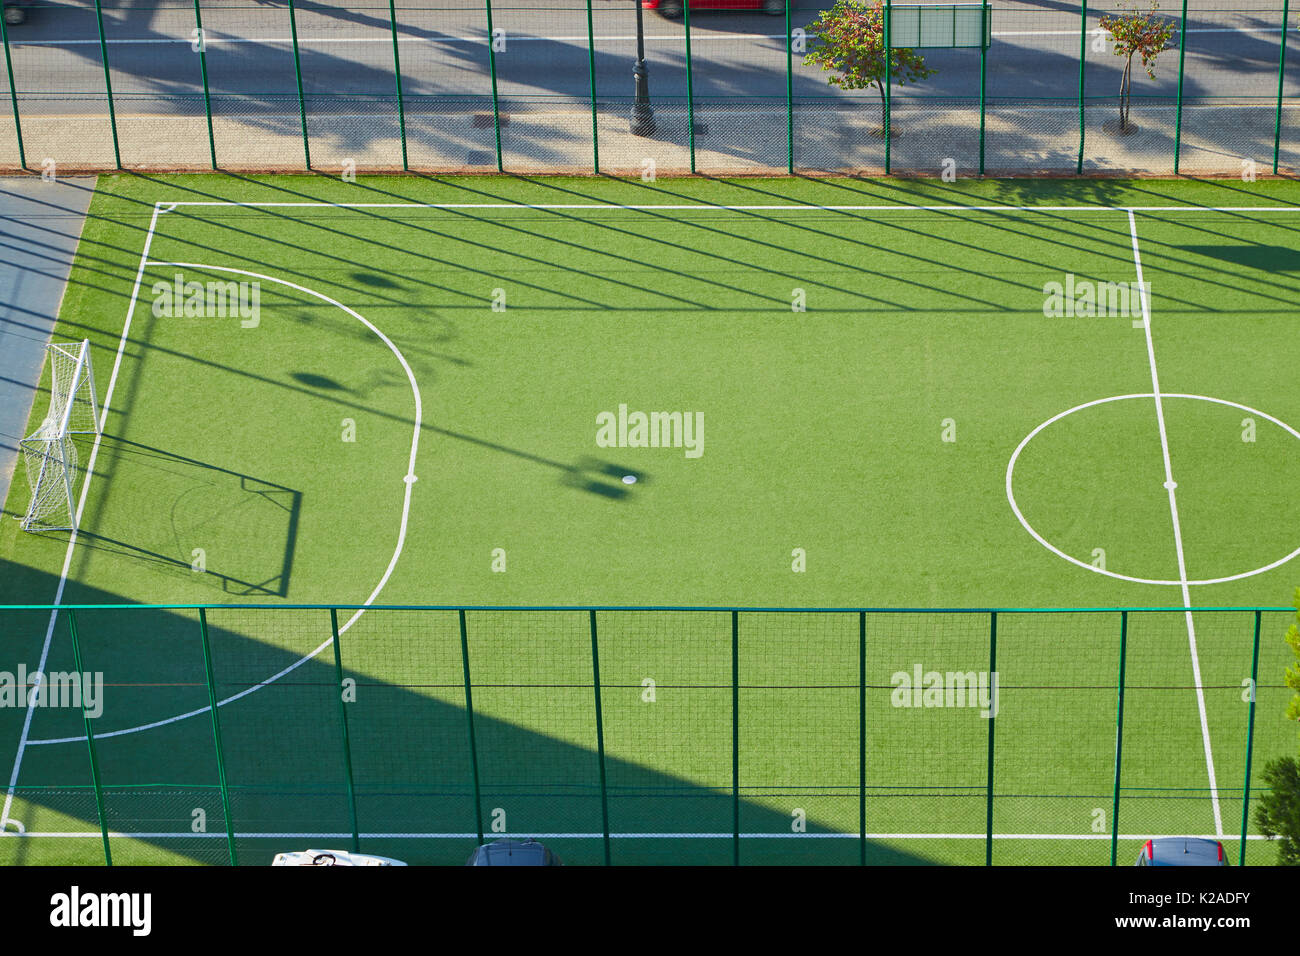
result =
M477 0L398 4L404 92L421 96L486 96L486 18ZM441 9L429 9L436 5ZM797 0L792 21L806 25L828 3ZM1096 8L1098 4L1089 4ZM1166 7L1175 12L1178 3ZM1231 12L1216 12L1219 8ZM1078 3L994 3L994 43L989 51L988 92L994 98L1074 98L1078 92ZM194 12L187 4L153 7L105 3L108 57L114 92L169 95L170 104L138 101L138 109L196 108L202 92L199 57L191 49ZM203 4L208 70L218 109L226 100L264 101L269 109L296 108L287 5L243 0ZM590 94L585 4L502 0L494 25L504 31L498 55L500 95L510 99L584 100ZM645 13L646 51L655 96L686 91L684 30L680 22ZM1089 26L1095 17L1089 18ZM693 18L693 81L698 98L785 96L783 20L760 13L699 13ZM298 4L298 34L308 94L391 95L393 44L387 3L365 0ZM602 98L632 94L634 8L630 0L595 0L595 83ZM1280 0L1193 0L1187 33L1187 94L1252 98L1277 92ZM1295 39L1295 38L1292 38ZM16 85L34 94L39 112L101 111L101 99L61 94L101 94L104 79L94 4L60 3L32 12L12 30ZM1292 62L1300 70L1300 46ZM979 90L975 51L931 51L939 74L918 94L974 96ZM794 57L797 98L837 95L815 69ZM1157 81L1139 79L1138 91L1173 95L1178 55L1160 61ZM1087 92L1113 95L1119 60L1105 48L1087 55ZM1300 74L1288 70L1288 92L1300 95ZM0 77L0 88L5 81ZM907 90L902 92L906 95ZM176 98L188 94L188 99ZM280 96L291 98L281 100ZM842 95L842 94L840 94ZM858 94L862 95L862 94ZM874 94L871 94L874 95ZM151 96L152 99L152 96ZM283 105L280 105L283 103ZM198 104L202 108L202 103ZM419 105L416 105L419 108Z

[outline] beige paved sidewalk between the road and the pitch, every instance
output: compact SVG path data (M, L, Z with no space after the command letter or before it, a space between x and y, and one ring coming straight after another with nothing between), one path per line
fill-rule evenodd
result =
M156 100L153 101L156 103ZM1060 100L998 101L985 117L985 170L1034 176L1074 173L1079 153L1078 107ZM122 104L130 107L131 104ZM393 109L387 107L391 105ZM1283 109L1279 172L1300 165L1300 114ZM230 170L300 170L306 168L302 120L276 104L259 114L214 114L217 163ZM312 168L342 173L402 169L402 139L395 103L332 100L332 112L308 112ZM1275 104L1184 104L1180 172L1239 176L1243 160L1260 174L1273 169ZM506 104L500 140L506 172L593 172L592 111L578 104ZM1117 109L1109 100L1089 104L1086 120L1084 172L1109 176L1169 176L1174 172L1176 109L1173 101L1134 104L1136 131L1114 131ZM785 103L697 103L694 168L712 174L786 172ZM601 172L640 176L689 173L686 105L655 104L651 137L632 135L630 103L602 103L597 116ZM117 114L122 163L127 168L187 170L211 168L203 113L129 112ZM407 111L407 155L422 172L495 172L491 104L467 104L458 112ZM794 168L806 173L884 173L880 111L866 101L796 103ZM939 176L952 159L958 176L979 169L979 108L970 100L900 98L892 114L890 170ZM107 113L25 114L27 166L47 159L60 170L110 169L112 133ZM0 116L0 169L17 169L13 118Z

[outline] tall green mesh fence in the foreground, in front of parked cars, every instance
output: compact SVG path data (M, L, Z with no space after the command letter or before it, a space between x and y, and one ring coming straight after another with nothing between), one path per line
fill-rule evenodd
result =
M1292 614L0 607L0 860L1271 862Z

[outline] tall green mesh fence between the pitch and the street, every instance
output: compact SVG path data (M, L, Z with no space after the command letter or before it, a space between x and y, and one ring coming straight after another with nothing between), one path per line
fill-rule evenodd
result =
M829 5L638 18L637 0L35 4L3 29L0 166L1251 178L1300 165L1290 0L1164 4L1173 39L1154 79L1134 68L1124 129L1123 60L1101 29L1123 4L991 0L987 48L927 39L936 75L906 83L890 60L884 88L852 91L803 62Z

